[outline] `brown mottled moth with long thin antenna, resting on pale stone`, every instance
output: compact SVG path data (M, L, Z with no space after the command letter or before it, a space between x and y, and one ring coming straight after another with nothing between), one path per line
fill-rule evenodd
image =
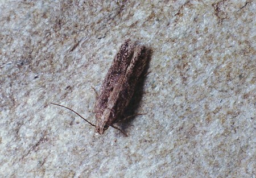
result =
M110 126L123 133L121 129L113 124L122 120L123 112L127 105L129 105L135 86L146 67L147 56L146 47L132 42L131 39L125 40L121 45L101 85L100 94L96 98L94 106L96 125L93 125L81 117L79 113L68 107L51 104L73 111L90 125L96 127L98 134L103 134Z

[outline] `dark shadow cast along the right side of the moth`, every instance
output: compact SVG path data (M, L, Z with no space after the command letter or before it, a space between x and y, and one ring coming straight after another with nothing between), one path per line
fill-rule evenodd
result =
M134 94L133 97L131 97L129 105L126 107L126 110L124 111L122 117L117 122L117 125L121 128L121 130L125 132L127 128L133 126L131 122L137 117L137 115L144 114L138 113L137 110L141 104L144 82L146 81L147 74L150 73L148 72L148 68L150 66L152 49L146 48L146 50L147 55L145 57L147 58L147 64L146 67L144 68L144 71L141 74L142 77L139 79L138 84L134 89Z

